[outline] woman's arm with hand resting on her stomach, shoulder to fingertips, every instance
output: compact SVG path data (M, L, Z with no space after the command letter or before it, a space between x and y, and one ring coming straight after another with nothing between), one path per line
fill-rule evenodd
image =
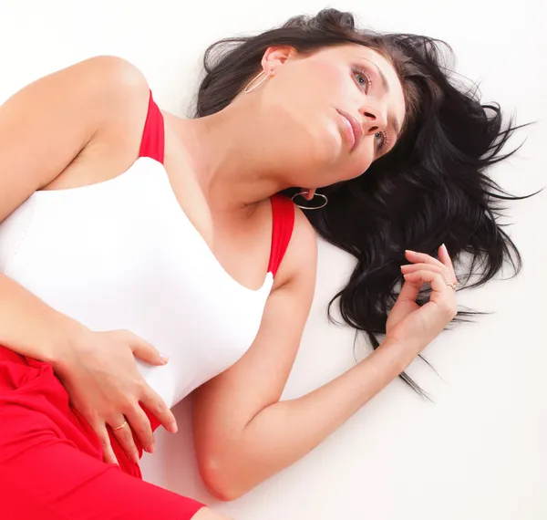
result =
M0 222L72 161L85 160L88 149L112 131L112 121L148 93L137 68L117 57L94 57L40 78L5 101L0 106ZM174 417L134 360L163 364L155 348L127 331L93 332L4 274L0 345L52 364L72 405L98 433L109 463L116 458L106 425L120 424L124 416L145 449L153 449L150 421L139 401L176 430ZM117 434L135 459L129 428Z

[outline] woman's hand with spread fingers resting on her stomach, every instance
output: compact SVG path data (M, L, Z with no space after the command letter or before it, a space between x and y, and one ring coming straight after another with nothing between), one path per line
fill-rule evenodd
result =
M97 433L106 463L117 463L108 427L130 460L139 462L133 432L146 452L154 450L150 421L140 403L169 432L177 431L169 407L140 375L135 358L156 366L167 362L150 343L127 330L95 332L84 328L53 363L72 407ZM125 426L115 430L125 421Z

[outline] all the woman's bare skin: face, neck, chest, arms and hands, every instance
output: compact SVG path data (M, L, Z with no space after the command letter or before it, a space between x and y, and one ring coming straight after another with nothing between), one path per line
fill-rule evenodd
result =
M309 57L271 47L262 68L269 74L263 85L240 94L218 114L201 120L164 114L165 166L181 209L224 269L249 288L262 285L268 262L269 197L298 186L311 198L323 186L363 174L394 146L405 117L395 70L366 47L331 47ZM0 109L0 143L5 143L0 220L36 190L104 182L126 171L138 156L148 99L148 85L136 68L98 57L8 100ZM358 142L348 137L339 111L361 125ZM235 498L304 456L396 378L454 317L454 292L447 283L455 275L446 249L439 249L439 260L408 252L408 261L417 267L405 267L407 282L381 348L324 387L279 402L315 288L315 232L296 212L293 239L253 346L196 391L196 452L213 494ZM414 299L425 282L433 286L431 305L418 308ZM108 425L126 418L152 450L150 423L139 412L139 400L166 428L175 429L172 414L134 366L133 355L163 362L153 346L127 333L93 332L5 276L0 276L0 294L5 295L0 343L53 364L73 405L102 440L107 462L115 462ZM36 327L17 325L28 322ZM113 350L119 352L116 359ZM82 373L94 374L99 365L104 372L105 364L111 370L108 383L99 376L81 383ZM129 431L116 435L135 457ZM223 517L203 509L194 518Z

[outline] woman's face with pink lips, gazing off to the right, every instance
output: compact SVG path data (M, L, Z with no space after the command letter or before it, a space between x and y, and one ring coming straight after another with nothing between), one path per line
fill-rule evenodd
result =
M403 88L374 50L351 44L302 56L270 47L263 69L271 71L257 88L264 137L291 185L315 189L357 177L397 142Z

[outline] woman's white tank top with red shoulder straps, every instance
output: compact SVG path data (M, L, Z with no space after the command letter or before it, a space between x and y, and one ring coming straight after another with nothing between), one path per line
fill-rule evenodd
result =
M263 286L236 282L191 224L163 166L150 93L139 159L118 177L33 193L0 223L0 272L93 330L129 329L170 359L139 370L169 406L251 346L290 241L294 206L272 198ZM32 327L32 324L28 324Z

